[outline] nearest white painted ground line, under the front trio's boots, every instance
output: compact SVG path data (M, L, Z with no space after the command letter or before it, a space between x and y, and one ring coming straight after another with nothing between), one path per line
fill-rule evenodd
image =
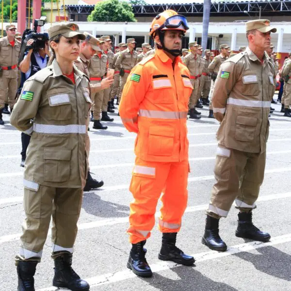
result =
M238 254L242 252L249 252L249 251L256 250L262 247L273 246L273 245L282 244L286 242L291 242L291 234L286 234L286 235L271 238L270 242L247 242L247 243L237 244L237 245L228 247L226 252L208 251L208 252L194 254L192 256L195 258L195 264L197 264L197 263L207 261L207 260L224 258L224 257L228 257L234 254ZM157 261L153 264L149 262L149 265L151 267L151 270L154 273L166 271L166 270L181 266L171 261ZM191 267L184 267L184 268L191 268ZM132 271L130 271L129 269L125 269L122 271L118 271L116 273L107 273L104 275L98 275L91 278L85 278L85 280L90 284L90 287L96 287L96 286L101 286L105 284L113 284L116 282L125 281L134 277L138 278L136 275L133 274ZM57 291L57 290L59 289L56 287L48 287L48 288L39 289L37 291Z

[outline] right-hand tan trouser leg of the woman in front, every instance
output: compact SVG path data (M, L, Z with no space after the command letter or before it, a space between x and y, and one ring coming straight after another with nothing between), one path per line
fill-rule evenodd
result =
M80 188L57 188L53 203L51 241L53 252L73 252L82 204ZM54 254L52 257L55 259Z

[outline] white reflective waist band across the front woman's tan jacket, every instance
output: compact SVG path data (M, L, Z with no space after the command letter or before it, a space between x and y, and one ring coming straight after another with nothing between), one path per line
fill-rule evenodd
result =
M69 124L69 125L50 125L50 124L33 124L33 131L49 134L65 134L65 133L86 133L86 125Z

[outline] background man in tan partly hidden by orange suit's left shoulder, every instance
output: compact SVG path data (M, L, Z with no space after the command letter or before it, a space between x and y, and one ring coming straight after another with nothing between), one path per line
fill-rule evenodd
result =
M118 101L121 99L123 87L131 69L137 64L137 52L134 50L135 44L136 42L134 38L128 38L128 48L119 54L115 63L115 67L120 69L120 89Z

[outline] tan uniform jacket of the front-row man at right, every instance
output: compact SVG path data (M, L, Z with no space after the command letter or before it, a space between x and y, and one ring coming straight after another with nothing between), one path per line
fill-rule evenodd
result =
M274 76L267 54L261 64L249 48L220 66L212 93L213 113L221 122L218 144L250 153L266 150Z

